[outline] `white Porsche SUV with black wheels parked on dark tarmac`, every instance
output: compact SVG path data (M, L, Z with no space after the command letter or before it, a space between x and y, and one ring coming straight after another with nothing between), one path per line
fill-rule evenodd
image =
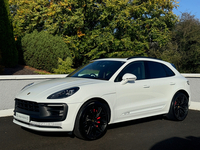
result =
M25 86L15 98L15 124L37 131L102 137L108 124L164 114L182 121L190 86L172 64L153 58L91 61L63 79Z

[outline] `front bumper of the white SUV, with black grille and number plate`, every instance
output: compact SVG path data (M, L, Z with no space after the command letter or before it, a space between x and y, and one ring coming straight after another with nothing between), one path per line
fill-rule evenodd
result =
M71 104L70 110L76 110ZM69 116L68 116L69 115ZM13 122L37 131L72 131L76 111L69 112L65 103L36 103L15 99Z

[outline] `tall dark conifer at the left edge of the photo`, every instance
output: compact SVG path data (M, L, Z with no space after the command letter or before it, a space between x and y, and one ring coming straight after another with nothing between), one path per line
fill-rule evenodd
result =
M17 65L17 49L7 0L0 1L0 53L5 67Z

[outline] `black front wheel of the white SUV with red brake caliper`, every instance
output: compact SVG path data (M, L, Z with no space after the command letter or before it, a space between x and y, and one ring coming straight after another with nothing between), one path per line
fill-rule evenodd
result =
M98 101L87 102L76 117L74 135L85 140L96 140L106 133L107 126L107 106Z

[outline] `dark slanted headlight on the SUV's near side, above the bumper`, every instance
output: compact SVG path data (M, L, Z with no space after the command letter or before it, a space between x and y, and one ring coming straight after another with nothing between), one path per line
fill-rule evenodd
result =
M56 93L48 96L47 99L61 99L61 98L66 98L66 97L69 97L69 96L73 95L78 90L79 90L79 87L73 87L73 88L70 88L70 89L65 89L65 90L56 92Z

